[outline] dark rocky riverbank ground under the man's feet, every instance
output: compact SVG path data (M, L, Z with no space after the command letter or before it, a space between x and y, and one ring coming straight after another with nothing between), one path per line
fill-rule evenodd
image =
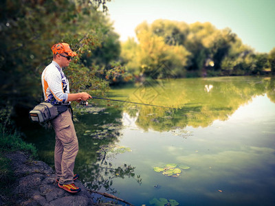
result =
M0 205L95 205L83 183L76 180L81 192L70 194L58 187L54 170L43 161L32 161L23 152L12 152L10 159L15 182L7 185L12 194L1 195Z

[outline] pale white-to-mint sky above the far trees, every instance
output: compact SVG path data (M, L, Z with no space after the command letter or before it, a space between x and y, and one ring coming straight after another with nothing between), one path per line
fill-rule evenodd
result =
M135 27L143 21L168 19L230 27L255 52L275 47L275 0L111 0L107 7L120 41L135 37Z

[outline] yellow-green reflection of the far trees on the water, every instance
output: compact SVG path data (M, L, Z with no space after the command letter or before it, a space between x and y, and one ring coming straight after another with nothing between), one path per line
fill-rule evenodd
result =
M120 100L179 109L124 104L124 111L135 118L135 124L143 130L165 131L175 126L207 127L216 119L227 120L239 106L247 104L256 95L267 93L270 100L275 99L274 78L170 80L145 86L129 90L126 96L115 93L120 90L112 92ZM129 124L131 118L128 119Z

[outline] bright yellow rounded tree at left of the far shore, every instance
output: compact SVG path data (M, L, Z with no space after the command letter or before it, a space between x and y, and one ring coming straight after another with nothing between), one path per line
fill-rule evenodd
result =
M168 32L162 28L163 25ZM136 48L136 67L145 76L166 78L164 65L169 67L174 77L183 76L185 73L190 53L180 43L184 35L180 34L175 25L175 22L155 21L152 25L144 22L136 27L135 33L139 42ZM182 27L184 25L179 28Z

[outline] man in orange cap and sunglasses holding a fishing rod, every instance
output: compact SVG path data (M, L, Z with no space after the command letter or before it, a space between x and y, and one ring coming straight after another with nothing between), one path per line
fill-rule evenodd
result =
M72 57L76 52L72 52L67 43L57 43L52 46L53 61L48 65L42 75L41 82L43 94L46 102L53 105L64 105L68 108L72 101L87 101L91 98L86 92L69 93L69 82L63 73L63 68L69 66ZM56 181L58 187L67 192L80 192L74 180L78 174L74 174L74 162L78 153L78 138L72 122L72 111L65 112L51 120L56 133L56 145L54 150L54 166L56 170Z

